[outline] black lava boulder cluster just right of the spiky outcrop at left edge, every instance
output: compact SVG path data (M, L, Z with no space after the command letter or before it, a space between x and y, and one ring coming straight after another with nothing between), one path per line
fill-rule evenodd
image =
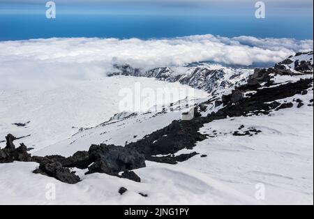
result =
M137 151L129 151L122 146L113 145L92 145L89 151L77 151L73 156L33 156L32 161L40 163L34 173L54 177L64 183L77 183L78 176L70 172L68 167L89 169L86 174L105 173L112 176L119 176L119 172L145 167L144 156ZM93 163L91 165L91 163ZM135 174L135 173L134 173ZM124 174L131 179L136 179L132 172Z

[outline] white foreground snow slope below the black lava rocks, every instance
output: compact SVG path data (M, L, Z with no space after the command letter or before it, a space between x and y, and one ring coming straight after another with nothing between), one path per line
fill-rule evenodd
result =
M0 204L313 204L313 107L307 106L313 91L280 102L293 98L304 100L304 107L297 109L295 104L269 116L206 124L201 133L214 136L217 130L218 135L199 142L193 150L177 153L197 151L200 155L178 165L147 162L147 167L135 170L141 183L107 174L84 176L86 170L74 169L82 181L68 185L33 174L36 163L0 165ZM251 137L232 135L241 125L245 126L243 131L256 128L262 133ZM136 133L132 127L122 130ZM95 133L98 128L94 128ZM88 135L84 137L87 142L91 140ZM112 135L112 141L118 139L118 135ZM255 186L260 183L265 199L257 200L255 193L260 187ZM52 185L56 199L47 199ZM121 186L128 189L124 195L118 193Z

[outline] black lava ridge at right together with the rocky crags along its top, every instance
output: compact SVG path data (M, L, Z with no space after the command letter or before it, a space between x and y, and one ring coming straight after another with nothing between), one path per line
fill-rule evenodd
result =
M311 63L308 62L308 65L311 65ZM313 65L308 68L313 69ZM304 93L313 84L313 79L306 79L261 89L262 84L266 84L266 86L274 84L271 80L274 75L286 74L290 74L289 69L256 69L255 74L250 77L247 84L234 89L230 95L223 96L222 100L216 100L223 103L225 106L223 109L218 110L216 113L213 112L207 117L195 116L190 121L172 121L169 126L145 136L138 142L130 143L126 147L143 153L147 160L177 163L176 157L156 158L152 156L174 154L181 149L193 149L197 142L207 138L206 135L198 132L204 126L204 123L225 119L227 116L269 114L271 110L281 110L285 108L285 104L280 104L276 100ZM255 93L249 97L244 97L244 92L248 91L255 91ZM289 104L287 105L288 107L290 106Z

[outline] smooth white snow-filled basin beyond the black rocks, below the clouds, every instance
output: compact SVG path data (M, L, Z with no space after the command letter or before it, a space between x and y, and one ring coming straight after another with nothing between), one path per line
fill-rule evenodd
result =
M11 133L16 137L31 135L21 139L21 142L35 149L57 144L77 133L80 128L94 127L108 121L114 114L123 110L119 107L120 101L128 98L133 103L134 96L138 94L135 89L137 83L140 83L140 91L145 88L154 91L153 96L148 96L148 108L154 105L160 106L164 101L169 105L186 98L183 94L190 98L208 96L204 91L191 89L179 83L170 84L152 78L119 76L103 77L99 80L73 80L67 84L54 84L53 87L47 88L0 88L0 142ZM130 89L131 95L119 93L124 89ZM169 98L163 98L167 90L181 92L182 95L174 95L170 101ZM130 110L132 108L130 107ZM171 122L171 119L166 122ZM24 127L13 125L13 123L28 121L29 123ZM167 123L162 124L167 125ZM162 127L158 126L158 128ZM147 131L154 131L154 129ZM0 143L0 147L3 146L5 143ZM86 145L84 149L88 149L89 146ZM70 151L70 154L75 153L77 149ZM52 153L62 153L62 151L64 149Z

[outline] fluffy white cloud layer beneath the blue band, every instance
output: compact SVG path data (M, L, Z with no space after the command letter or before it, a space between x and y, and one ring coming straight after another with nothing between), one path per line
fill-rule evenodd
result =
M313 50L313 40L250 36L4 41L0 42L0 86L20 86L18 81L21 80L24 84L27 80L42 84L45 80L47 85L66 78L84 80L103 77L112 70L114 62L130 63L139 68L181 66L195 61L250 66L282 61L294 52L307 50Z

